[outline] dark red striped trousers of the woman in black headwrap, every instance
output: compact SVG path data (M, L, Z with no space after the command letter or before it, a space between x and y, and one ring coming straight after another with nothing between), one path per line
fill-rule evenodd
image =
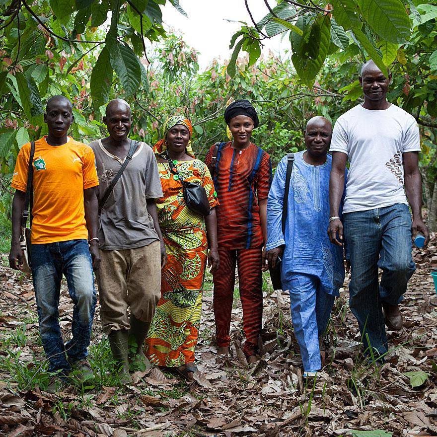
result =
M229 347L230 319L235 287L235 266L238 266L238 283L243 307L243 328L246 357L258 350L258 337L263 316L262 247L253 249L218 249L220 267L214 274L214 316L218 347Z

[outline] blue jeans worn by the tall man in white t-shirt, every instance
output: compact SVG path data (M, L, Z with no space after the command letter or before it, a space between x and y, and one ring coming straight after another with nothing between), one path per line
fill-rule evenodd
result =
M343 225L352 268L349 306L358 320L366 355L369 347L383 355L388 348L382 302L397 305L416 270L410 210L395 204L346 213ZM378 267L382 270L380 285Z

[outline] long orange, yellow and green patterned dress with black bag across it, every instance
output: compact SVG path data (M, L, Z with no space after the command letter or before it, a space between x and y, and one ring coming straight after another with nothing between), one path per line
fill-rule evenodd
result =
M182 179L202 185L210 207L218 205L208 167L199 159L177 164ZM186 205L182 184L168 163L158 162L163 197L156 201L159 226L167 251L162 271L161 298L147 340L150 363L178 367L194 362L202 311L202 291L207 262L205 218Z

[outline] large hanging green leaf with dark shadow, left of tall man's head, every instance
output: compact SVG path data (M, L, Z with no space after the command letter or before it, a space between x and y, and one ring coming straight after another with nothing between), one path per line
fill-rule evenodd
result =
M318 15L311 27L303 33L297 51L291 56L299 77L312 86L319 73L331 42L331 20L329 15Z

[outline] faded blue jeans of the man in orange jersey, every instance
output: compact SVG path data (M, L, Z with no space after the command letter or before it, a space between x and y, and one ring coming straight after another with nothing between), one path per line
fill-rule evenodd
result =
M63 274L73 300L73 338L65 345L58 310ZM97 301L88 242L81 239L32 244L32 275L39 332L49 359L49 371L68 372L70 363L82 360L88 354L86 348Z

